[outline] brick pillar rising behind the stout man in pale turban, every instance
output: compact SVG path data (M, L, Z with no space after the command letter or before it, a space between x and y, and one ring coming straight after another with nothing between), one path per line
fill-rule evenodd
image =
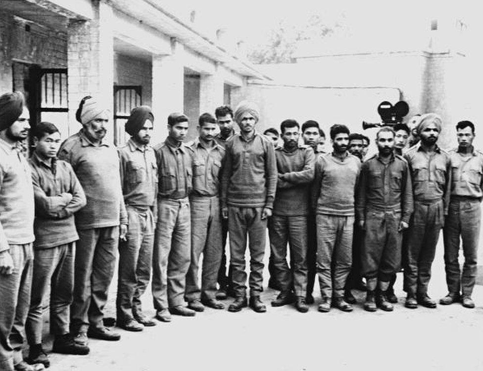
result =
M90 21L71 21L68 26L67 67L69 99L69 135L79 130L75 112L86 95L96 96L113 110L114 50L111 6L93 2L95 17ZM113 140L111 120L106 138Z

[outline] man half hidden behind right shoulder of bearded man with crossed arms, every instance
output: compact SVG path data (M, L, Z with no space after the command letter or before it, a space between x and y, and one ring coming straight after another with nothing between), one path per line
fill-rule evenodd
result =
M314 150L315 163L317 163L318 158L325 153L319 143L321 132L322 129L319 128L319 123L317 121L307 120L302 124L302 139L305 145L309 145ZM310 198L310 195L308 197ZM315 276L317 275L317 235L315 226L315 210L312 210L311 204L309 207L310 210L307 217L307 290L305 302L307 304L313 304L314 296L312 293L314 292Z

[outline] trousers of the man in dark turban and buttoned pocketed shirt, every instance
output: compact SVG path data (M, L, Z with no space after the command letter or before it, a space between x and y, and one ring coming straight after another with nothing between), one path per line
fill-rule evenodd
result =
M126 206L129 228L126 241L119 243L117 321L122 324L141 315L141 296L151 276L154 219L150 208Z

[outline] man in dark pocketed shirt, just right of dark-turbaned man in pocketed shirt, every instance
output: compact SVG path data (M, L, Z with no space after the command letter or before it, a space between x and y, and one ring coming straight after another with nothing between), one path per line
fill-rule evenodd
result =
M191 261L193 151L183 143L188 117L168 116L168 138L154 147L158 165L158 218L154 232L152 297L156 318L170 322L171 315L194 316L183 306L186 274Z

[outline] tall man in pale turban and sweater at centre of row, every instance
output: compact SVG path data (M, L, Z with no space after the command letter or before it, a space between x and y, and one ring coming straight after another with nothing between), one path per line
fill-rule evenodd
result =
M222 175L221 205L228 218L230 265L233 270L235 301L230 312L247 306L245 251L248 235L250 250L250 307L266 312L260 300L263 290L263 256L267 218L272 215L277 187L277 163L273 144L255 131L259 110L255 103L242 101L235 111L240 126L226 146Z

